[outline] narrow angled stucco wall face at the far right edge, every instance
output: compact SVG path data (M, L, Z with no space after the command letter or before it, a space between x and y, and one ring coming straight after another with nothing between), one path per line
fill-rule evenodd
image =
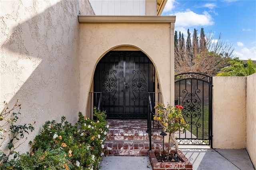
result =
M256 167L256 73L247 77L246 85L246 149Z

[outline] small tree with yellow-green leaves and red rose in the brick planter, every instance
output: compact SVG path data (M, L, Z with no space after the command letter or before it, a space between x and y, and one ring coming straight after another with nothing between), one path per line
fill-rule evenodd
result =
M154 115L154 120L160 121L164 131L169 133L168 153L170 152L170 138L174 140L176 150L178 150L178 143L174 138L174 133L176 131L182 131L184 133L188 128L188 124L186 124L181 113L183 107L180 105L172 107L169 103L165 107L163 103L158 102L155 109L157 109L157 113Z

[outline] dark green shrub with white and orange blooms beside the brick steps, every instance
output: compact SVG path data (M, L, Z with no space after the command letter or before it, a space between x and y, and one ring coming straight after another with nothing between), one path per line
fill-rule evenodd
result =
M104 155L103 139L108 132L106 114L94 108L96 121L84 117L78 113L78 121L73 126L62 117L61 123L47 121L43 125L41 133L30 141L33 152L61 149L74 170L93 170Z

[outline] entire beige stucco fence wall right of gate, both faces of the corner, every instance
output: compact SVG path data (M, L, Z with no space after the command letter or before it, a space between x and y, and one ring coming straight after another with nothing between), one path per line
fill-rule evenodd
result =
M213 148L246 148L256 164L256 74L213 77Z

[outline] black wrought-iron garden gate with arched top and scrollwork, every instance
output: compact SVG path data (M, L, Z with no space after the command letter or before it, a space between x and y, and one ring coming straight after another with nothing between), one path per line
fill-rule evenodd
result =
M201 73L175 75L175 103L182 105L188 130L176 132L179 144L212 146L212 77Z

